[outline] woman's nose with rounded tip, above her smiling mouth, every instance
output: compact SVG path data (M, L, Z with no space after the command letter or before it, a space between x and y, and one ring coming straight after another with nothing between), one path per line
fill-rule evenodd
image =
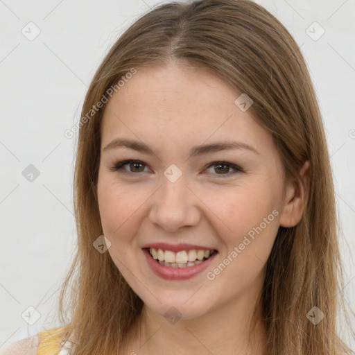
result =
M150 222L167 232L198 225L200 221L199 202L193 189L187 185L184 175L175 182L163 177L162 185L152 196Z

